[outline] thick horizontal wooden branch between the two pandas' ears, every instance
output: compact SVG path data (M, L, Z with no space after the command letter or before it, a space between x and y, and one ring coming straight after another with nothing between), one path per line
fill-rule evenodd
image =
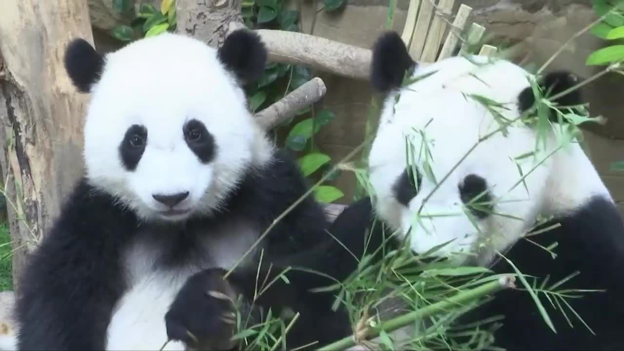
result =
M243 27L243 24L230 22L229 32ZM300 64L338 76L369 79L373 55L369 49L300 32L273 29L255 32L265 43L270 62Z

